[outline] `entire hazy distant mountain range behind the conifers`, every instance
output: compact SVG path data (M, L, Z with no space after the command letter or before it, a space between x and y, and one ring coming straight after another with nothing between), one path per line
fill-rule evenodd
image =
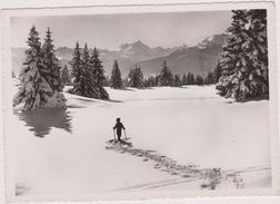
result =
M150 48L138 40L123 43L118 50L99 49L99 51L107 75L111 72L114 60L118 60L122 76L126 76L136 65L141 67L146 76L159 74L163 60L167 59L168 66L176 74L191 71L204 76L214 68L216 58L222 51L226 39L227 35L214 35L192 47L183 45L173 48ZM61 66L68 65L72 55L72 48L59 47L57 49ZM12 48L12 70L16 75L19 75L23 61L24 48Z

